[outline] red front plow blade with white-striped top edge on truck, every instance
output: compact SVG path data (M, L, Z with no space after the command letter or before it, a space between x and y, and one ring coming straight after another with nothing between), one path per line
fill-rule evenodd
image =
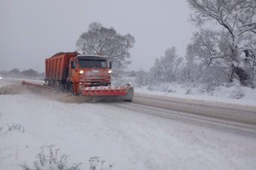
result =
M86 87L81 88L80 94L85 97L109 97L110 100L133 100L133 87Z

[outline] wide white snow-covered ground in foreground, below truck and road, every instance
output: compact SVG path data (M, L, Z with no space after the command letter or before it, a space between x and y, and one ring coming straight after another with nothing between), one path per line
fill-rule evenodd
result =
M256 169L254 135L61 97L0 95L0 169L32 167L46 145L81 169L90 169L90 157L116 170Z

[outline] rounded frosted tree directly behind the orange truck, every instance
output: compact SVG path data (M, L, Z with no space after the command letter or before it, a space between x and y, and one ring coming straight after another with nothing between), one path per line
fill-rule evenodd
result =
M120 35L114 28L105 28L100 23L93 22L88 31L81 34L77 42L78 49L90 55L105 55L113 63L116 73L123 70L130 58L129 49L135 42L131 34Z

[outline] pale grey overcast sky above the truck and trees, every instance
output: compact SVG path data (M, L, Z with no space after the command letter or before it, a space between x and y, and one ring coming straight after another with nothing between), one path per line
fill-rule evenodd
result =
M91 22L132 34L129 70L149 70L169 47L185 54L189 13L186 0L0 0L0 70L44 72L44 59L75 51Z

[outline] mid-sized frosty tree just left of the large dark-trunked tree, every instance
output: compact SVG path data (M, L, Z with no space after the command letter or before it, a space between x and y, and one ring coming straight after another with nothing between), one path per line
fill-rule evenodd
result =
M186 74L188 79L203 83L208 89L229 82L232 61L222 55L222 34L204 30L194 33L187 46Z

